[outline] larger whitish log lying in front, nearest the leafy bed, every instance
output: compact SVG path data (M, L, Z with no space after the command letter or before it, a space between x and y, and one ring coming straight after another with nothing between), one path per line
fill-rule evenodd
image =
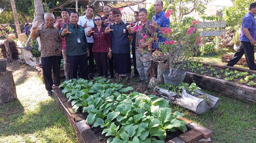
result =
M204 99L188 94L184 88L181 96L172 91L168 92L168 90L159 87L155 87L153 91L158 97L163 97L169 102L191 110L196 114L206 113L209 109Z

